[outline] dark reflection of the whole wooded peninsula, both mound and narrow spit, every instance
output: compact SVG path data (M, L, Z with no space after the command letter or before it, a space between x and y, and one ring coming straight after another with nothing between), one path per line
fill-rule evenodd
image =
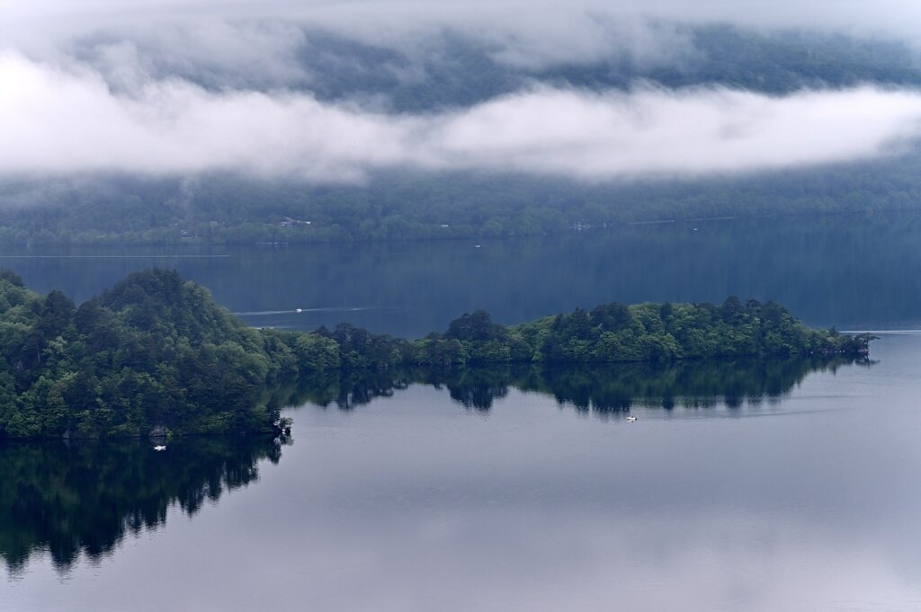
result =
M844 358L680 361L542 368L392 369L329 372L272 390L278 405L335 405L351 410L390 397L411 384L446 387L472 410L490 410L509 388L553 396L606 418L633 407L706 408L724 402L741 409L781 398L807 375L834 371ZM170 506L196 514L258 479L258 463L281 457L279 441L265 437L174 439L157 453L147 441L0 444L0 557L8 572L47 552L59 572L82 555L98 560L122 539L164 525Z

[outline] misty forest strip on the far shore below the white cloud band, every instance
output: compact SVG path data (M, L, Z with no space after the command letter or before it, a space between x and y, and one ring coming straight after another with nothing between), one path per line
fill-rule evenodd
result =
M0 182L0 244L258 244L539 236L573 228L916 209L921 155L717 179L580 183L381 174L310 185L195 179Z

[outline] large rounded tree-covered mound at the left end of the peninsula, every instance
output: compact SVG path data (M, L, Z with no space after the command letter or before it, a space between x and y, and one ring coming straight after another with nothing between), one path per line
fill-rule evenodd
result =
M0 435L273 431L261 389L297 373L284 342L175 271L132 274L76 308L0 274Z

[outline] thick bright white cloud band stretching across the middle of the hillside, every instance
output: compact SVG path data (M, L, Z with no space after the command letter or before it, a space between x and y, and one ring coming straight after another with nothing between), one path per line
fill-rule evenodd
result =
M396 168L697 176L884 156L921 132L921 93L873 87L779 98L535 87L462 110L387 115L169 78L114 93L96 72L17 53L0 55L0 83L7 176L237 171L343 181Z

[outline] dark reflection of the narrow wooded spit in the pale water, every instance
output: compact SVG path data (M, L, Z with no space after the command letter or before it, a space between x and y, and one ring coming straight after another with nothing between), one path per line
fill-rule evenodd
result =
M351 410L374 398L390 397L411 384L447 387L467 408L489 410L509 387L553 396L560 404L599 415L633 407L731 409L781 398L807 375L867 360L844 357L801 359L684 360L672 364L592 366L507 365L466 369L407 368L363 373L323 373L302 379L286 403L335 404Z

